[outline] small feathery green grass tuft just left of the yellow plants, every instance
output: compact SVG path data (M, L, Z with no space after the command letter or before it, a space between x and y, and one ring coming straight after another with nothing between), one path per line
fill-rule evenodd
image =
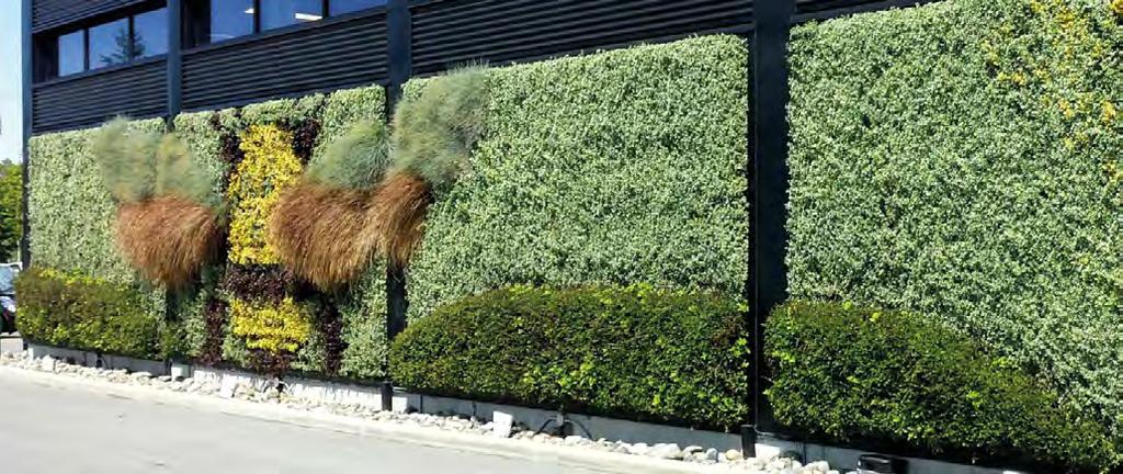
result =
M217 210L222 198L214 182L177 134L167 134L156 151L156 195L175 195Z

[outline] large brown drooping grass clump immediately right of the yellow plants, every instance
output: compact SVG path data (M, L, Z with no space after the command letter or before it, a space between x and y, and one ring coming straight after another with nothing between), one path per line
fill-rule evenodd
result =
M307 180L287 190L270 217L281 262L325 290L358 277L378 249L373 195Z

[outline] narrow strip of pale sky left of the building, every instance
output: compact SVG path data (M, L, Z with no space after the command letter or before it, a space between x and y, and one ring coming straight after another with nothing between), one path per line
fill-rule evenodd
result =
M0 0L0 161L21 161L24 146L20 0Z

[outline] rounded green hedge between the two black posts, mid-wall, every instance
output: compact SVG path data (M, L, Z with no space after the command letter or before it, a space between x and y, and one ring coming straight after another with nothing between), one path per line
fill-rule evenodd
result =
M731 428L749 412L745 311L716 293L514 286L414 322L390 368L442 395Z

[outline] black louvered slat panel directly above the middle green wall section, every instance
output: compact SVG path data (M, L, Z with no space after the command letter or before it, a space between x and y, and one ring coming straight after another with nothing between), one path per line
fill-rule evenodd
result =
M693 34L746 33L750 0L437 0L413 11L413 69L530 61Z

